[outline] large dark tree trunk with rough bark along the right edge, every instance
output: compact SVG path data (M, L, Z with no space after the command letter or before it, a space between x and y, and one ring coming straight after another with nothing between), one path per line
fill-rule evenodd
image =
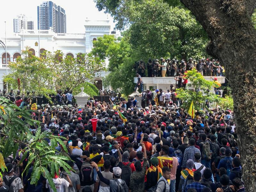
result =
M246 191L256 191L256 0L181 0L203 25L207 52L226 69L234 98Z

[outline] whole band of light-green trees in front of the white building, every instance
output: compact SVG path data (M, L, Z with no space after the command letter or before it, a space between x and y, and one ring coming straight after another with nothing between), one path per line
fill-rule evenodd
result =
M20 79L21 94L24 91L35 91L36 94L48 97L55 94L57 89L75 89L74 94L80 92L82 85L89 95L98 94L97 88L92 85L93 77L105 71L104 60L93 57L91 53L80 53L76 58L67 56L63 58L61 51L42 53L38 58L26 50L16 62L9 64L12 73L4 76L4 82L13 89L18 89ZM86 89L88 87L88 89ZM89 88L90 87L90 88ZM76 90L78 92L76 92Z

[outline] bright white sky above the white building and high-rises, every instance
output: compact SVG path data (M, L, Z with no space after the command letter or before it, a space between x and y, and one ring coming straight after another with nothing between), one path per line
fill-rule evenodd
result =
M19 14L25 14L28 20L34 21L37 29L37 6L43 0L1 0L0 36L4 35L4 21L6 34L13 33L13 19ZM53 3L65 9L67 15L67 33L85 33L84 20L110 20L114 28L113 19L103 11L99 12L93 0L52 0Z

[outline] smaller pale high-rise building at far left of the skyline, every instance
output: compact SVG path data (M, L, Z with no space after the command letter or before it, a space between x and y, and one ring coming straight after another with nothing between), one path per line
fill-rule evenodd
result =
M34 29L34 21L27 20L26 15L17 15L17 18L13 19L13 32L20 33L21 29Z

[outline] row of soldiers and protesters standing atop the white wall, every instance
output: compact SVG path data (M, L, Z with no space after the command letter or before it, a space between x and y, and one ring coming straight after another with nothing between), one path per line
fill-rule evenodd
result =
M134 64L134 70L140 74L141 77L175 77L179 74L184 75L185 71L196 68L196 70L204 76L223 76L224 68L219 60L215 59L199 59L196 61L193 58L189 58L188 62L184 59L181 61L177 58L164 58L148 59L147 64L143 60L137 61Z

